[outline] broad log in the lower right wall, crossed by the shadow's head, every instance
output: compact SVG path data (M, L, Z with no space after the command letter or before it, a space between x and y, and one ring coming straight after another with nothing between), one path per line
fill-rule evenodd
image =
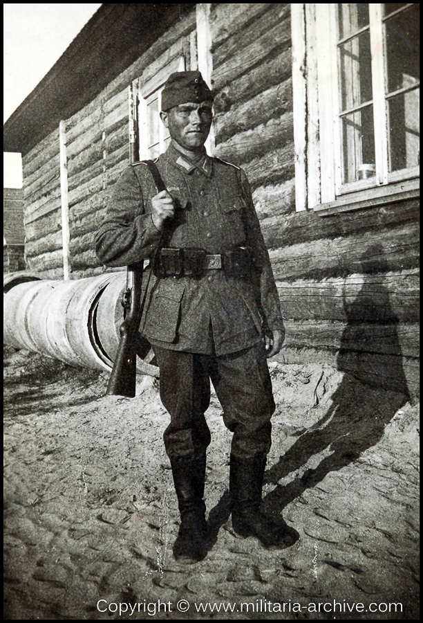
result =
M417 323L419 269L321 281L276 281L283 316L294 320Z

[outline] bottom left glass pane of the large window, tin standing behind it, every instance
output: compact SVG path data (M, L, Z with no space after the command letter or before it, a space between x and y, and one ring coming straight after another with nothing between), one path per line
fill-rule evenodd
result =
M344 183L375 177L373 106L341 117Z

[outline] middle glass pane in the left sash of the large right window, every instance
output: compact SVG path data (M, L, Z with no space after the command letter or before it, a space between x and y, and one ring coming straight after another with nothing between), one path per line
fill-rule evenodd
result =
M366 31L339 46L341 108L350 110L372 100L370 33Z

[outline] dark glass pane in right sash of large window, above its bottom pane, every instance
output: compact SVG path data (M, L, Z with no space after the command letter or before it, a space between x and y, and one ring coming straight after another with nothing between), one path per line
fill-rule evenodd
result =
M388 93L420 79L419 7L412 6L385 22Z

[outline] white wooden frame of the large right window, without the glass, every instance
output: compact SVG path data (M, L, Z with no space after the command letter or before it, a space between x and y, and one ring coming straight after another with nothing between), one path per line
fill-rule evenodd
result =
M376 176L349 183L342 183L341 170L338 5L291 6L297 211L347 210L368 206L372 199L379 204L394 201L400 193L418 195L420 167L388 172L382 4L368 5Z

